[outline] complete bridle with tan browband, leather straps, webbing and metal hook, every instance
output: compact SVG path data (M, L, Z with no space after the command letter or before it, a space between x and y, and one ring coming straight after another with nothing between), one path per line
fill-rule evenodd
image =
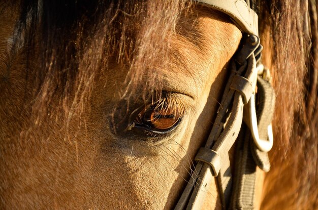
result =
M205 147L200 148L194 174L175 209L200 209L216 178L224 209L253 209L256 167L270 169L267 152L273 146L272 116L275 93L269 70L261 63L258 16L249 0L197 0L229 15L243 32L232 57L231 73ZM256 106L257 101L257 106ZM229 150L236 143L235 174Z

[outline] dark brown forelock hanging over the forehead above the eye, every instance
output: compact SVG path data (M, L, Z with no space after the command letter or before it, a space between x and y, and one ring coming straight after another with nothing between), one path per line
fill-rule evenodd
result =
M137 89L160 95L160 75L155 70L168 64L169 41L165 40L190 5L184 0L12 3L16 4L20 17L14 43L23 39L28 55L35 51L43 55L36 61L37 68L27 64L28 79L36 87L35 118L47 116L57 92L58 107L66 116L85 112L93 84L101 76L108 77L114 65L126 70L116 97L134 96ZM147 82L141 85L145 74Z

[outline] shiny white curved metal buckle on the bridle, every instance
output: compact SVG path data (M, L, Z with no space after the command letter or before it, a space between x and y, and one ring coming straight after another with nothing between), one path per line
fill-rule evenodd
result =
M266 69L265 69L266 70ZM264 66L259 64L257 68L255 68L252 76L252 88L253 93L248 101L248 103L244 106L244 121L247 124L249 130L251 131L253 140L255 145L263 152L268 152L273 147L273 130L272 124L268 125L267 132L268 132L268 140L260 139L259 136L259 129L257 123L257 116L256 116L256 107L255 107L255 90L256 90L256 83L257 83L257 75L266 72L266 76L270 78L269 70L264 70Z

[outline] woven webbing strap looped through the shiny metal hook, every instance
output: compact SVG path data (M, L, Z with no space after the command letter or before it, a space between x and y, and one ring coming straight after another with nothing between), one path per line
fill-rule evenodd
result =
M267 139L267 127L272 121L275 93L268 81L258 76L258 127L262 139ZM268 172L270 163L267 152L254 144L250 132L243 123L237 139L235 156L235 182L232 191L232 209L254 209L256 166Z

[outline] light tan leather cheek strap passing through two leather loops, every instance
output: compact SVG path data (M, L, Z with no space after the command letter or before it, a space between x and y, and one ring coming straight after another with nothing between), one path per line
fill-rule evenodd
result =
M213 128L205 145L204 150L211 149L211 151L206 155L202 155L202 151L204 150L200 150L201 155L199 153L199 156L196 157L196 160L199 162L195 169L199 176L193 177L188 182L175 209L200 209L207 193L205 189L209 188L208 185L210 185L213 176L217 176L222 205L227 206L230 202L232 175L229 150L237 139L243 120L244 103L242 95L245 95L244 98L247 98L246 100L251 97L251 92L248 91L248 88L246 89L245 85L241 86L242 89L240 91L237 91L236 89L239 86L235 86L234 88L232 82L234 78L236 80L239 79L242 74L244 74L244 79L242 80L248 80L249 82L247 83L251 83L250 80L255 80L257 76L257 72L255 71L256 60L253 54L238 70L236 70L236 65L233 59L229 82L227 83L225 94L221 100L221 106L218 109ZM202 161L204 158L207 159Z

